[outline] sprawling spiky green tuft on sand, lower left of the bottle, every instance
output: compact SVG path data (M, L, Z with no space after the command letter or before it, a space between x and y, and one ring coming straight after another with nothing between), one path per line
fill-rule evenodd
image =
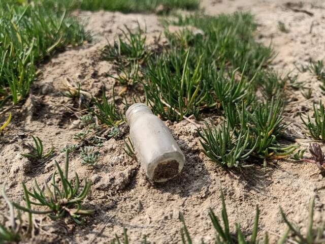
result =
M75 173L75 179L69 180L69 151L66 151L66 162L62 170L60 165L55 161L56 171L52 174L50 186L45 181L44 188L41 188L35 180L35 187L32 191L27 190L23 183L24 200L26 206L21 206L17 203L13 205L25 212L28 212L29 218L31 214L48 215L51 219L59 219L65 217L67 214L77 224L82 224L82 216L90 215L94 210L83 209L82 202L87 197L92 185L91 181L84 180L84 187L80 189L80 179ZM56 175L59 174L60 185L56 181ZM73 182L75 182L73 184ZM34 210L32 205L45 207L45 210Z

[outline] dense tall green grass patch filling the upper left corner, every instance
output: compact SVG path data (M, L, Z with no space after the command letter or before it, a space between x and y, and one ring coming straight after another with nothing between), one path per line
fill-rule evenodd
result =
M65 12L58 16L47 8L2 1L0 16L0 104L8 98L17 104L28 96L37 64L55 50L90 40Z

